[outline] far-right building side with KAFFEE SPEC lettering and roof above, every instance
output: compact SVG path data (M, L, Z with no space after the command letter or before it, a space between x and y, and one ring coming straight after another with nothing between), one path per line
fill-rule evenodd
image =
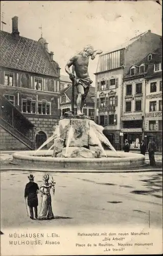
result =
M145 139L153 137L162 152L162 47L150 55L146 75Z

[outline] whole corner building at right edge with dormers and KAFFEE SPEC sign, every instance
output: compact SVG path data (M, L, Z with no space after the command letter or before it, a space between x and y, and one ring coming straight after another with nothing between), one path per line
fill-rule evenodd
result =
M161 47L133 65L123 83L123 142L139 147L142 138L153 135L161 150L162 79Z

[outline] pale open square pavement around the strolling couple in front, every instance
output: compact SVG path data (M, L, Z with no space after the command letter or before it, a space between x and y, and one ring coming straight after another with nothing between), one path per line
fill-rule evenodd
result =
M24 189L28 171L1 172L1 231L8 227L88 224L162 225L162 173L50 173L54 220L27 216ZM44 172L33 172L40 185ZM40 195L38 196L40 208Z

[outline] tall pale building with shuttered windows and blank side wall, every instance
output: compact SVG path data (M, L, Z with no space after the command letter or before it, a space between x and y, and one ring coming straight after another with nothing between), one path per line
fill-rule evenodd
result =
M123 78L133 62L141 61L158 48L160 38L147 31L99 56L95 73L95 121L104 126L105 136L117 150L121 149Z

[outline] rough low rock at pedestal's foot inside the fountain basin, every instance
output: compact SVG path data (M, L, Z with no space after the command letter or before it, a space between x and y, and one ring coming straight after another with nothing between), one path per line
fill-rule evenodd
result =
M85 147L71 146L63 148L62 152L57 154L57 157L67 157L67 158L98 158L98 153L96 151L88 150Z

